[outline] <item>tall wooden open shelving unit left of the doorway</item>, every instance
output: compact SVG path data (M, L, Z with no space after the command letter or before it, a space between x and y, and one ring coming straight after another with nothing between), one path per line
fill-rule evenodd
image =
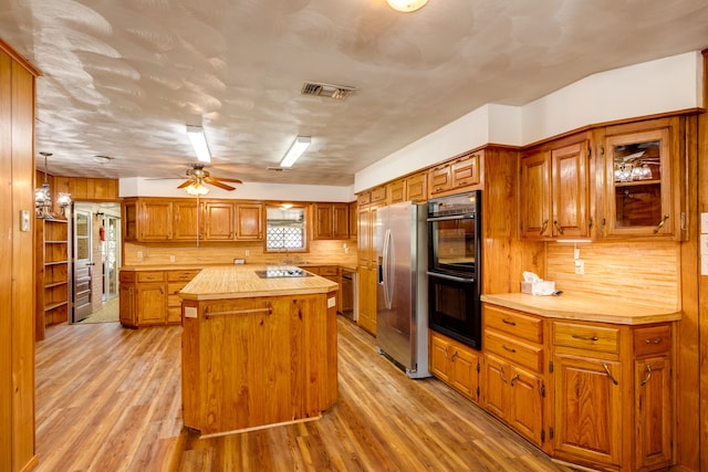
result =
M69 321L69 222L37 219L37 339Z

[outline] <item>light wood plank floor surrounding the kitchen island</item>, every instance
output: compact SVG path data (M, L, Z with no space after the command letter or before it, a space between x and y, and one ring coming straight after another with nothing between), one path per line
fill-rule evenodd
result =
M339 329L340 399L321 419L200 439L181 427L181 327L52 327L37 346L37 470L569 471Z

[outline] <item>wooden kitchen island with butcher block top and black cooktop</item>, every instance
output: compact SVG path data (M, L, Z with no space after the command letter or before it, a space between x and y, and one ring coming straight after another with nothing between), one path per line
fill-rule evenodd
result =
M179 293L185 426L223 434L334 405L336 291L298 268L204 269Z

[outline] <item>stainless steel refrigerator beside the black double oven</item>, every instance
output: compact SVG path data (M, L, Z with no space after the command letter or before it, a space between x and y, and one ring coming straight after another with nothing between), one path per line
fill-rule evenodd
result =
M427 207L376 211L376 344L410 378L429 377Z

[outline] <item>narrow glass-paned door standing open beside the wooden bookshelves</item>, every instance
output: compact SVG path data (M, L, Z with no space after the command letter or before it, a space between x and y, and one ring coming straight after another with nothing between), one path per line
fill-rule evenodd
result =
M91 315L91 212L74 210L74 303L72 321L77 323Z

